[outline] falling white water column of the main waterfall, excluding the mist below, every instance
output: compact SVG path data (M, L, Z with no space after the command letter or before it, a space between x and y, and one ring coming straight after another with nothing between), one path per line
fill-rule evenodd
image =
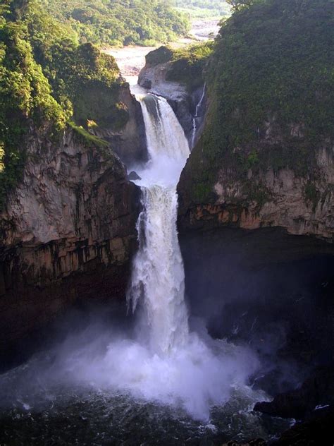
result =
M137 223L140 248L132 267L128 302L141 299L149 325L149 343L168 354L188 339L185 275L176 229L176 185L190 153L183 128L168 102L154 95L140 100L147 133L149 163L140 171L143 210Z

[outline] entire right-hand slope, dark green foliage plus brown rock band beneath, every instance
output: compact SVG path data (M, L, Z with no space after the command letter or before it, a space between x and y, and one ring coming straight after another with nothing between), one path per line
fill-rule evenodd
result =
M182 227L333 241L333 24L329 0L266 0L223 25L206 128L178 188Z

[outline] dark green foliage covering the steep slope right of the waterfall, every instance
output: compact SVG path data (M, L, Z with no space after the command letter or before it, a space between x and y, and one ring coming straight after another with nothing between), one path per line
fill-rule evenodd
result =
M314 147L334 136L333 1L234 3L207 73L206 130L187 167L199 202L214 199L219 168L235 172L249 196L250 168L311 175ZM261 200L259 185L253 192Z

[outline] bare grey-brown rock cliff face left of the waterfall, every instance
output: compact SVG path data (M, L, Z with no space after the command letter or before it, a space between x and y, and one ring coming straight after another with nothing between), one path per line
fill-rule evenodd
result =
M124 296L139 192L106 145L30 127L27 163L0 215L0 350L78 299Z

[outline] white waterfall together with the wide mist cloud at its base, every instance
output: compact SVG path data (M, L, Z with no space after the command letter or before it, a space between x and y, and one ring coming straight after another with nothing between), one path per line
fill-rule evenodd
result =
M124 423L131 426L131 432L137 432L135 426L142 432L142 415L147 423L154 422L142 402L153 402L154 411L156 404L174 406L173 420L181 415L180 422L191 426L184 421L183 411L186 411L192 418L201 420L202 429L202 421L210 420L213 406L222 410L228 406L233 408L238 394L242 406L245 401L259 401L246 385L259 361L247 346L212 339L206 331L205 315L192 317L191 330L188 326L185 273L176 228L176 185L190 150L185 133L166 100L154 95L138 99L144 116L149 161L144 167L135 167L141 178L135 183L142 190L142 212L137 222L140 246L133 261L127 296L128 307L133 311L137 308L135 324L127 320L118 326L118 320L111 323L108 319L110 324L106 326L94 321L87 330L73 333L57 345L45 361L34 359L27 369L26 365L23 367L24 396L16 398L16 403L24 401L27 406L35 406L38 387L47 392L46 407L49 407L50 396L61 385L59 395L54 397L57 404L58 396L61 400L69 390L72 397L78 388L80 404L86 406L82 390L88 389L89 395L92 394L95 408L95 398L102 398L101 411L94 409L103 418L97 424L101 429L110 419L106 418L106 413L110 412L123 414L120 417L122 432ZM237 277L227 279L237 280ZM208 305L213 303L205 293L203 299ZM0 389L2 383L0 377ZM31 402L27 400L26 384L32 385ZM15 395L17 387L15 373L13 385L8 389ZM232 404L225 405L229 400ZM68 401L66 397L66 417ZM112 410L108 409L110 401L115 402ZM38 398L36 404L39 407ZM140 412L136 409L138 404ZM240 404L235 407L242 407ZM233 418L229 415L226 420L230 419ZM235 419L239 423L239 411ZM169 420L168 426L173 426ZM159 429L163 425L159 419ZM216 429L211 423L207 426Z

